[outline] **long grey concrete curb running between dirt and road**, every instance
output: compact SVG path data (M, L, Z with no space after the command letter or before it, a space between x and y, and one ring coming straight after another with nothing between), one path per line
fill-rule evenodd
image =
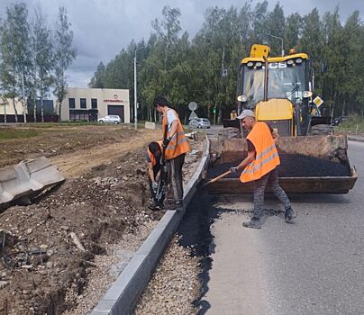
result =
M105 293L91 315L124 315L131 314L141 293L150 281L159 257L168 246L170 238L175 233L180 220L185 214L187 204L196 193L196 186L209 160L210 141L206 137L207 147L195 175L185 187L184 207L181 211L167 211L157 226L150 232L122 274Z

